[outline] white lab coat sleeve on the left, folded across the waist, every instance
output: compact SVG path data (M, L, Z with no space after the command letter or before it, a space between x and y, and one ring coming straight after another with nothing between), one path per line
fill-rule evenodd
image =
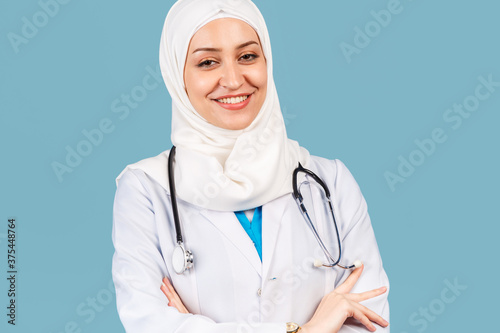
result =
M181 314L169 307L160 285L162 278L170 275L150 198L148 178L142 171L123 174L113 206L112 275L118 314L127 333L286 332L285 323L216 323L206 316Z

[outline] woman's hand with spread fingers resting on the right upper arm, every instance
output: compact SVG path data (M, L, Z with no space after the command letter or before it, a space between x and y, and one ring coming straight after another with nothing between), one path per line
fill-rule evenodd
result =
M301 332L337 333L349 317L359 320L372 332L376 330L372 322L383 327L389 325L389 323L378 314L359 304L361 301L385 293L387 291L386 287L359 294L350 293L352 287L354 287L358 281L363 271L363 267L364 266L356 268L344 283L323 297L311 320L302 326Z

